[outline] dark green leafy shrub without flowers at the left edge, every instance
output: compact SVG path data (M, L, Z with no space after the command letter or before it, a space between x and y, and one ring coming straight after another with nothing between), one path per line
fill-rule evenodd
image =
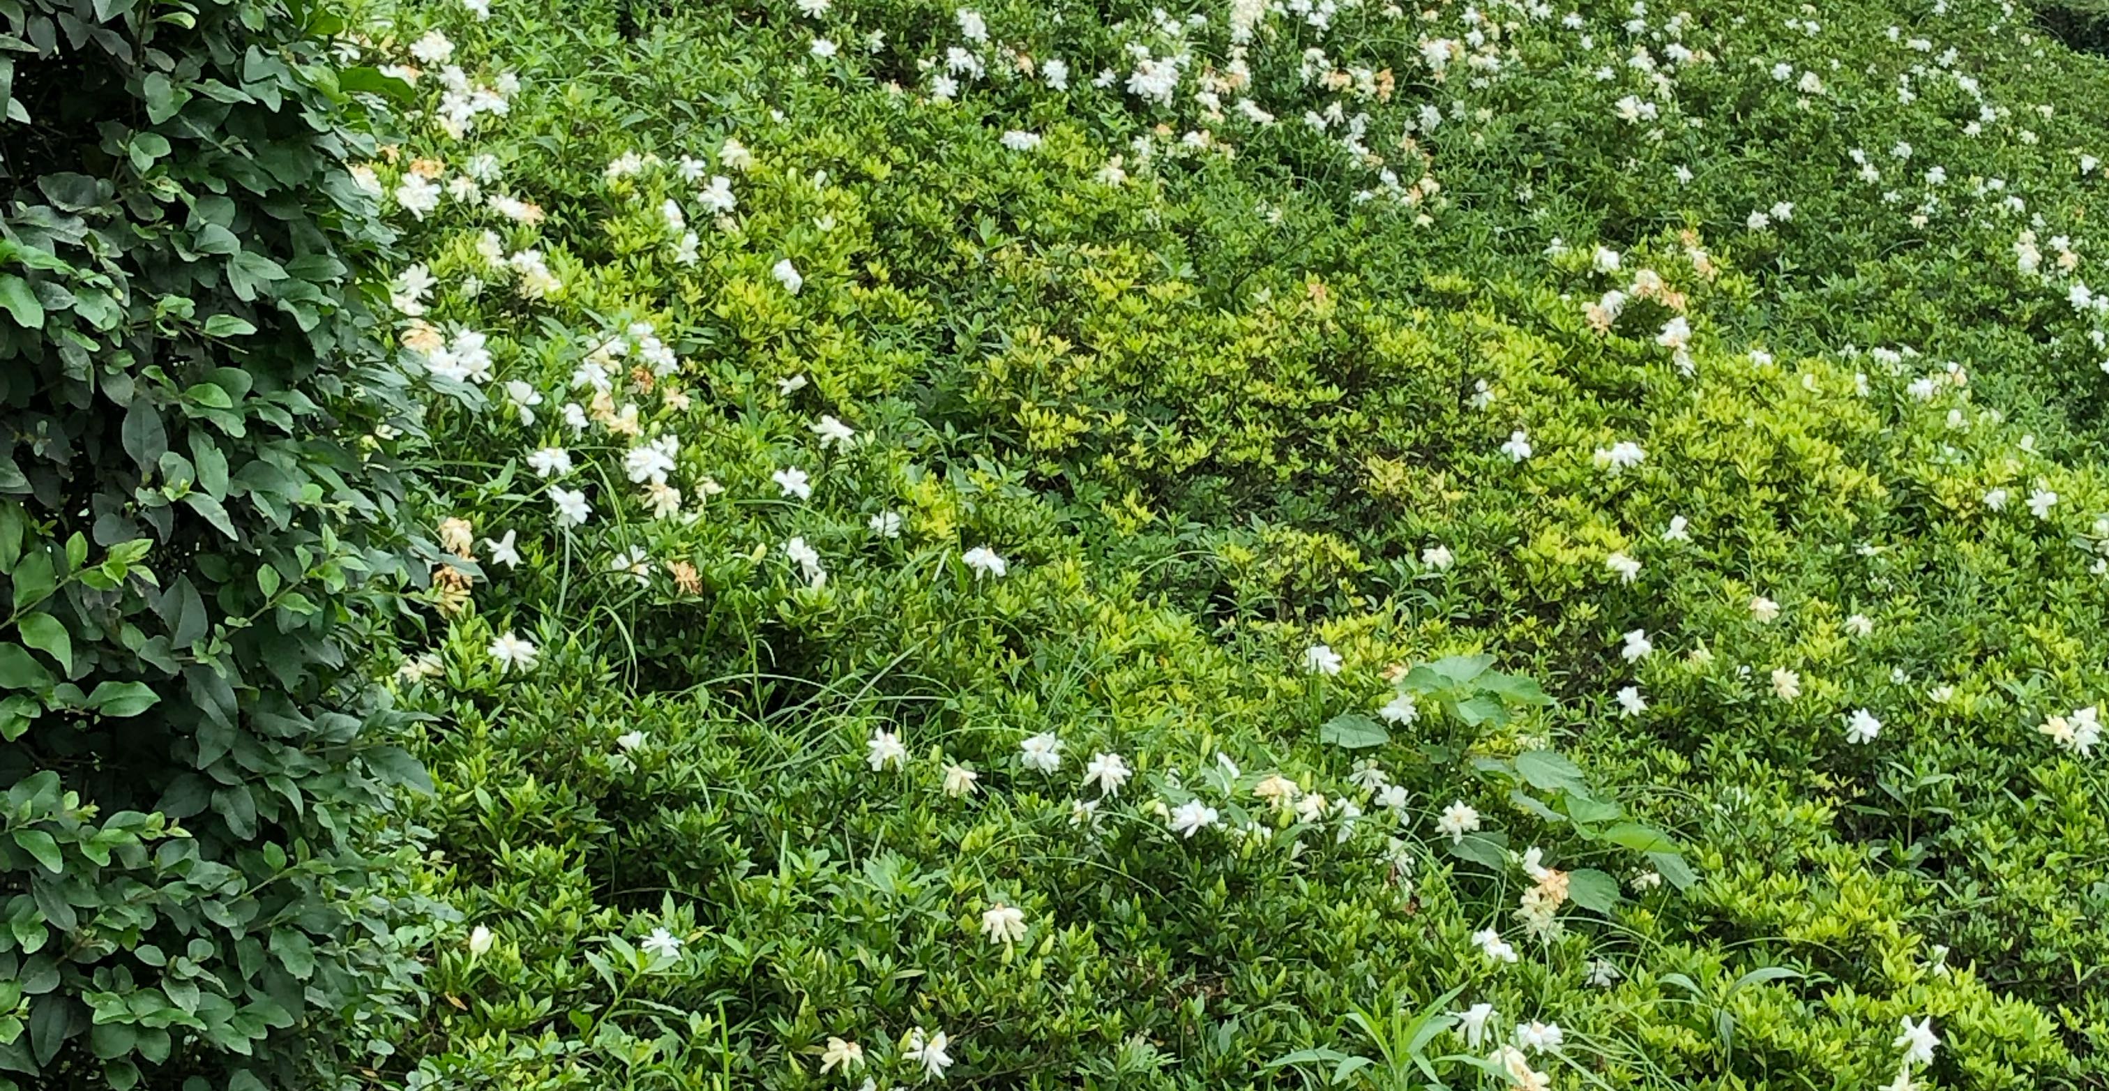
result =
M4 1089L323 1087L415 985L335 25L0 2Z

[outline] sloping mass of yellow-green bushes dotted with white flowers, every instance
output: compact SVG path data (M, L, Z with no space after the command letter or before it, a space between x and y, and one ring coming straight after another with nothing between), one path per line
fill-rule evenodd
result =
M2109 1076L2092 68L1691 6L354 13L378 1070Z

